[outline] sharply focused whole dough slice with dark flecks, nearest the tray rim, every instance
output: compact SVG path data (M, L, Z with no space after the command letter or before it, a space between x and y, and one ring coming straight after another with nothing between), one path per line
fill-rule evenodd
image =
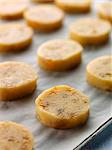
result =
M36 115L45 125L66 129L84 124L89 115L89 102L82 92L60 85L44 91L36 99Z

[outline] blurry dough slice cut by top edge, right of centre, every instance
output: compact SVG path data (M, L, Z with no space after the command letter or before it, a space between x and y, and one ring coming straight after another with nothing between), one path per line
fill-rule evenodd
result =
M91 9L92 0L56 0L56 5L68 13L84 13Z

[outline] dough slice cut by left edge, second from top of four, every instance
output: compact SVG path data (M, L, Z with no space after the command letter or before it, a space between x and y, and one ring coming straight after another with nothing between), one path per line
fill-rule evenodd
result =
M0 25L0 52L20 51L32 42L33 31L19 23Z

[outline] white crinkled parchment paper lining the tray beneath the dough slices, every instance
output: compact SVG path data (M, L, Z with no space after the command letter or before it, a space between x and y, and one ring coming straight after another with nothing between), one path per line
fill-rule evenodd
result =
M101 2L100 0L96 1ZM31 64L38 72L37 89L31 96L11 102L0 102L0 121L11 120L28 127L35 138L35 150L72 150L101 124L112 117L112 94L88 85L85 78L86 65L94 58L110 55L112 39L101 46L85 47L83 61L76 69L67 72L47 72L37 64L37 49L50 39L68 38L68 27L77 18L93 16L93 11L84 15L66 15L60 30L44 34L35 32L32 45L20 53L0 54L0 62L15 60ZM2 23L2 22L0 22ZM42 125L35 117L35 99L45 89L67 84L83 91L90 98L90 117L86 125L69 130L56 130Z

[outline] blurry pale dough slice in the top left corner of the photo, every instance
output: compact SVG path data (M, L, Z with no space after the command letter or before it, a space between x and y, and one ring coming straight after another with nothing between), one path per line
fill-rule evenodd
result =
M0 0L0 18L19 19L28 7L25 0Z

